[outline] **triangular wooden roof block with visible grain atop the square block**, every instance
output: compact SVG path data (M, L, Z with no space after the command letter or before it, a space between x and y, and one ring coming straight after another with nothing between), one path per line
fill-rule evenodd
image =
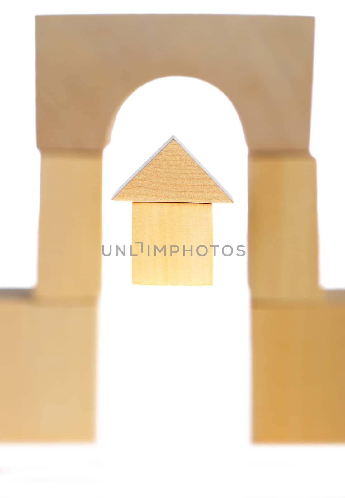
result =
M233 202L231 195L175 136L115 192L113 200Z

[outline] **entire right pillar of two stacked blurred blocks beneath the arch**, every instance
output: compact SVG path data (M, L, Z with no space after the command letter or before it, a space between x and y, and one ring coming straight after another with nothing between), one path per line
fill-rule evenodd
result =
M345 441L345 296L318 285L316 176L306 152L249 155L255 442Z

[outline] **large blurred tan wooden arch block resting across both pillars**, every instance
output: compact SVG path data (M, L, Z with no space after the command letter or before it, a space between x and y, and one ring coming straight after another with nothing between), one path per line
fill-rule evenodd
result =
M102 150L132 92L190 76L231 100L249 149L308 150L313 45L312 17L37 16L38 148Z

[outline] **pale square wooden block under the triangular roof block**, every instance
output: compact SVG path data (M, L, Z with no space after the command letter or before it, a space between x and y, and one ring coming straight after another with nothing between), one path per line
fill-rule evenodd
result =
M132 214L132 246L138 254L132 258L132 281L142 285L212 285L213 252L212 204L134 202ZM143 253L141 245L143 242ZM150 256L147 246L150 246ZM164 252L156 251L154 246ZM179 251L170 255L170 246ZM193 253L185 252L193 246ZM199 256L199 245L208 248ZM173 248L176 250L176 248ZM203 254L204 248L199 252Z

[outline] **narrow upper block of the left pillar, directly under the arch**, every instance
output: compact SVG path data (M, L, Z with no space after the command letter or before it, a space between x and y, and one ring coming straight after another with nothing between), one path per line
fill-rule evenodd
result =
M37 296L98 296L101 201L101 152L42 152Z

